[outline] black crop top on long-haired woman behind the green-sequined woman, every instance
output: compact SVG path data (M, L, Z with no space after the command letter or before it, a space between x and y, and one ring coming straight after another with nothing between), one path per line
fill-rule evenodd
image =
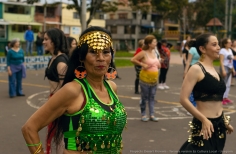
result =
M50 59L50 61L48 62L48 66L50 64L52 59ZM61 54L59 56L56 57L56 59L53 60L52 64L50 65L50 67L47 67L45 70L45 77L47 77L49 80L54 81L54 82L59 82L60 80L64 80L64 78L59 78L58 72L57 72L57 64L63 62L66 63L68 62L68 56L65 54ZM64 76L64 75L61 75Z

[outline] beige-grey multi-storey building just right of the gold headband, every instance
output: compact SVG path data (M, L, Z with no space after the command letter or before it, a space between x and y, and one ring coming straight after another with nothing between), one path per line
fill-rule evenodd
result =
M106 27L112 33L116 50L134 50L138 40L154 31L151 14L132 11L128 5L118 6L116 12L107 13L106 16Z

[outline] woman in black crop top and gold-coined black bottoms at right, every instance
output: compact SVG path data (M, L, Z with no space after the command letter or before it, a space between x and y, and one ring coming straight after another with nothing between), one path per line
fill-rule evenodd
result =
M221 154L226 131L230 134L233 127L224 115L221 103L226 87L213 66L213 61L219 58L220 47L214 35L202 34L196 39L196 48L201 55L200 62L189 69L180 93L180 103L194 118L189 124L189 139L182 145L179 154L196 151L198 154L213 151ZM196 108L188 99L192 91Z

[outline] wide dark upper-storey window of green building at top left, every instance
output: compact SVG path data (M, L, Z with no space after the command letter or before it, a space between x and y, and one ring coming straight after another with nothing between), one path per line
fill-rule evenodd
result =
M5 5L6 13L14 13L14 14L30 14L30 7L22 6L22 5Z

